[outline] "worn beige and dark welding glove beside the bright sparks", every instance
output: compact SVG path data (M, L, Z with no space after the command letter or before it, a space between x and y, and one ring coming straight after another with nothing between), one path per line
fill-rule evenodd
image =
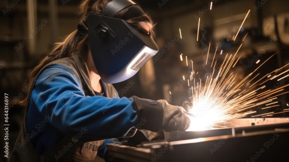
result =
M139 129L158 132L186 130L190 119L184 114L184 109L168 104L166 100L149 100L132 96L140 123Z

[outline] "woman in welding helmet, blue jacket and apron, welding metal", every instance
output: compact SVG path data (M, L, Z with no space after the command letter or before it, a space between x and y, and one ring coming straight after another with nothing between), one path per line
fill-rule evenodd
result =
M105 156L105 144L112 138L132 135L127 134L131 128L173 131L190 124L178 106L119 98L108 84L133 76L153 56L149 53L158 51L150 35L153 21L137 4L84 0L79 15L77 30L30 72L32 86L22 102L25 118L10 161L92 161L97 154ZM116 46L121 49L107 58L105 50L122 35L118 30L131 32L131 37L124 37L126 46Z

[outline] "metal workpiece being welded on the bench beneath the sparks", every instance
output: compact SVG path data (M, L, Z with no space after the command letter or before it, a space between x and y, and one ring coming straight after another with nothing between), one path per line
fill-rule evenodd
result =
M124 161L289 161L287 118L234 119L229 123L236 126L164 132L163 141L135 147L108 144L107 148L110 155Z

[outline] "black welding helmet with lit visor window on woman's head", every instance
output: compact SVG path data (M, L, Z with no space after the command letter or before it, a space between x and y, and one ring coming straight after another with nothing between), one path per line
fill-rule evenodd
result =
M122 18L113 18L131 5ZM113 0L99 15L88 15L90 50L103 82L118 83L131 78L158 52L151 34L125 21L143 14L140 6L131 0Z

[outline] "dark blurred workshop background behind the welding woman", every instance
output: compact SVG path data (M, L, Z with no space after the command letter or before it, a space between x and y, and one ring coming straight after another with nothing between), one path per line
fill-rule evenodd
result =
M47 55L54 43L77 28L79 3L79 0L0 1L0 91L1 94L8 93L10 98L11 151L25 112L25 108L20 107L17 101L23 100L27 93L28 71ZM283 53L271 58L260 69L261 74L266 75L289 63L287 0L138 0L138 3L157 23L155 35L160 52L134 77L114 84L121 97L136 95L153 100L165 99L170 104L182 106L190 100L190 89L187 82L183 81L183 76L187 76L191 67L180 60L180 55L184 60L185 56L192 60L195 71L203 78L210 73L210 68L204 64L210 42L209 62L217 46L216 53L221 62L225 54L235 53L243 43L236 56L240 60L234 68L238 74L237 82L260 65L255 61L264 62L276 52ZM248 10L251 11L233 41ZM220 55L221 51L223 55ZM268 87L276 88L285 84L289 84L289 78L269 82ZM279 102L282 104L274 111L284 110L288 101L288 94L280 97ZM277 115L288 116L286 113Z

